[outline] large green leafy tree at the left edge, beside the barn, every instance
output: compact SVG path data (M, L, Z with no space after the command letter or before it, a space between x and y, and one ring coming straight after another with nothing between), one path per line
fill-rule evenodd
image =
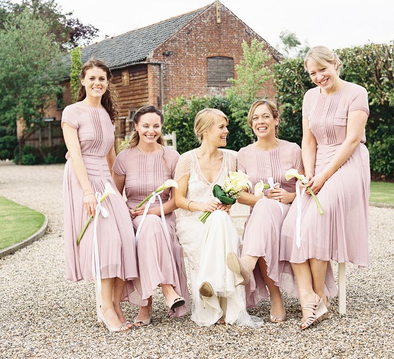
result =
M22 118L27 134L42 126L45 110L62 91L62 53L49 26L27 9L0 30L0 44L0 126L15 135Z

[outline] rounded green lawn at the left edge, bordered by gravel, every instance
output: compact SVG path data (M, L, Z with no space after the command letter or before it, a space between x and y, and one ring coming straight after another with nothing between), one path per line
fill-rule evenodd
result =
M0 196L0 250L34 234L44 221L44 214Z

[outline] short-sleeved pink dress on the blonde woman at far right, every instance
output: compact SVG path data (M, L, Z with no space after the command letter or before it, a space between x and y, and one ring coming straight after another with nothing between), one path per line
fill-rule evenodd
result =
M347 83L338 93L325 96L316 87L306 92L303 116L316 137L314 172L321 173L346 138L347 117L351 111L369 114L365 88ZM297 206L291 206L283 223L281 260L302 263L308 258L368 266L368 198L370 185L369 153L360 144L349 159L326 181L317 197L323 208L320 215L313 198L302 202L301 246L295 245Z

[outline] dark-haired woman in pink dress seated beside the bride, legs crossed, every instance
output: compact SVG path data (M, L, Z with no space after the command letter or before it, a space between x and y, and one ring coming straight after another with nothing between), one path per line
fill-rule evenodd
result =
M129 148L116 156L113 178L116 188L127 196L127 206L136 231L145 206L135 207L156 188L174 178L179 153L164 146L164 116L154 106L140 108L133 117L134 131ZM134 326L151 323L152 295L161 286L166 306L172 316L189 310L189 293L182 247L175 235L174 190L162 194L166 228L162 222L159 201L151 204L137 238L137 257L144 301Z

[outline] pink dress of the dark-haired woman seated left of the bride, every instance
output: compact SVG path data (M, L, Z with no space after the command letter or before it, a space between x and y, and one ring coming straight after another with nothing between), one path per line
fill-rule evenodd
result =
M179 153L163 147L158 154L145 154L136 147L120 152L113 164L113 171L125 176L125 193L128 208L134 209L146 196L161 186L166 179L174 178ZM170 198L170 189L162 194L163 204ZM156 200L150 208L159 206ZM136 231L142 216L132 221ZM175 215L165 215L169 238L163 228L160 216L148 214L144 220L137 242L137 257L142 286L142 299L147 305L148 298L154 294L161 283L171 284L175 292L185 298L185 304L168 310L171 316L182 316L189 310L189 292L182 247L175 235ZM131 227L130 227L131 228Z

